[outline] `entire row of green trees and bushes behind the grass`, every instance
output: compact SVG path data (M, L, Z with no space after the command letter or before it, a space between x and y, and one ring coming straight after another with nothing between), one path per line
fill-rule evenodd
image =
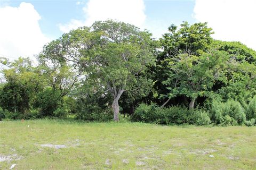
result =
M212 39L207 23L168 29L156 40L97 21L46 44L36 65L1 57L0 118L255 124L255 50Z

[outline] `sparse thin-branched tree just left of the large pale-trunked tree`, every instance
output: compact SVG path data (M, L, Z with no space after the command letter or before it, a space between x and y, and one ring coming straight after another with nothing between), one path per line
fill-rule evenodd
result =
M38 69L47 85L59 94L63 106L63 97L82 79L82 70L63 60L63 53L58 45L59 41L55 40L44 46L43 52L38 55Z

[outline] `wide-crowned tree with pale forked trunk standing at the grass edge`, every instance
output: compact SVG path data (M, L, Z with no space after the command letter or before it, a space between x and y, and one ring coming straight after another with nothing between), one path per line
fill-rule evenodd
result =
M83 71L85 79L97 80L113 96L114 120L118 101L135 76L154 64L154 40L148 31L131 24L98 21L64 34L55 41L51 54Z

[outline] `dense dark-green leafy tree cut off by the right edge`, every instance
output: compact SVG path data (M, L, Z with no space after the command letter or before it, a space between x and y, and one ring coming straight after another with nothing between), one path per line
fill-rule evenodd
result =
M256 52L239 42L214 40L212 46L228 53L226 80L214 85L223 101L235 99L244 107L256 91Z

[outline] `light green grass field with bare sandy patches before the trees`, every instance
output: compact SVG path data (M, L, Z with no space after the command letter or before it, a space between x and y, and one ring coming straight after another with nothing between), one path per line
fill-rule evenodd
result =
M0 146L0 169L256 168L255 126L11 121L0 123Z

